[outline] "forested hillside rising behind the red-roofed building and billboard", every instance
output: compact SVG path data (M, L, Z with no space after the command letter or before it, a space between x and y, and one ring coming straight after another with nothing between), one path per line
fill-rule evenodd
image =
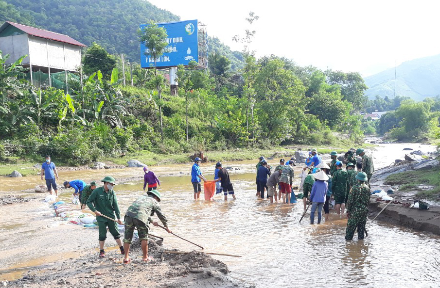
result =
M136 30L139 24L178 21L180 17L144 0L0 0L0 22L24 25L67 34L90 45L97 42L109 53L124 53L139 62ZM228 46L214 38L211 51L221 51L240 66Z

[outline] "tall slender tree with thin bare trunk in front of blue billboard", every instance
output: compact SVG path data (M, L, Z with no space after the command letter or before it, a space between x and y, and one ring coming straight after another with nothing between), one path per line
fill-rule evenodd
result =
M158 90L159 97L159 122L160 122L160 137L163 143L163 124L162 124L162 77L158 77L158 69L156 61L158 57L162 56L164 49L168 46L167 32L165 28L159 27L153 21L150 25L138 30L138 35L141 43L145 45L145 55L149 55L154 60L154 75L155 85Z

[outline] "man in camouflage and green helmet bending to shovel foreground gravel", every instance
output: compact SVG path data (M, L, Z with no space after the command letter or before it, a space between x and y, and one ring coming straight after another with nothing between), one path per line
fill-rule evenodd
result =
M125 232L124 232L124 250L125 255L123 263L130 263L131 259L128 258L130 252L131 240L133 239L133 233L135 227L138 229L139 240L141 240L142 248L142 261L150 260L148 258L148 231L150 230L150 223L158 226L157 222L153 222L151 219L156 212L159 220L165 226L168 233L171 230L168 228L168 222L165 215L162 214L160 209L160 193L157 190L148 191L147 194L141 195L133 204L128 207L124 217Z

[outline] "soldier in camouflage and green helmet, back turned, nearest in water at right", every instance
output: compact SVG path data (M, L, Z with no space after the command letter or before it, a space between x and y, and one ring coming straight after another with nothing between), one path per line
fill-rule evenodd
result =
M364 239L365 224L367 223L368 201L370 188L365 184L367 174L359 172L356 176L358 182L353 186L347 202L347 229L345 239L352 240L357 228L357 239Z

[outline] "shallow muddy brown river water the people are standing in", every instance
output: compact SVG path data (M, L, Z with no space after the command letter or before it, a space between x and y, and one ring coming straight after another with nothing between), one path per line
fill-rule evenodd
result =
M373 153L376 169L402 159L405 147L434 150L433 146L421 144L381 144ZM269 163L276 165L277 160ZM224 163L240 168L230 173L237 200L228 202L222 194L213 201L194 201L191 178L187 175L191 165L151 167L162 182L161 207L173 232L206 247L205 252L243 256L214 256L229 266L231 277L256 287L438 287L439 236L377 221L367 224L369 237L365 240L356 240L355 234L355 240L346 241L347 220L333 212L329 221L320 225L309 224L309 213L299 223L302 202L271 205L267 200L256 199L255 164ZM213 166L201 164L208 179L213 178ZM125 168L59 174L61 184L72 179L99 180L105 175L130 178L142 176L143 172L141 168ZM299 178L295 181L299 184ZM0 179L3 193L33 188L36 184L42 184L39 176ZM143 181L133 180L116 186L122 214L143 193L142 184ZM64 190L58 200L69 201L72 190L68 191ZM57 259L97 253L97 230L58 221L44 202L3 206L0 217L1 280L13 280L29 267L50 266ZM165 246L182 251L198 249L159 229L154 227L152 233L164 237ZM115 245L108 236L106 249Z

